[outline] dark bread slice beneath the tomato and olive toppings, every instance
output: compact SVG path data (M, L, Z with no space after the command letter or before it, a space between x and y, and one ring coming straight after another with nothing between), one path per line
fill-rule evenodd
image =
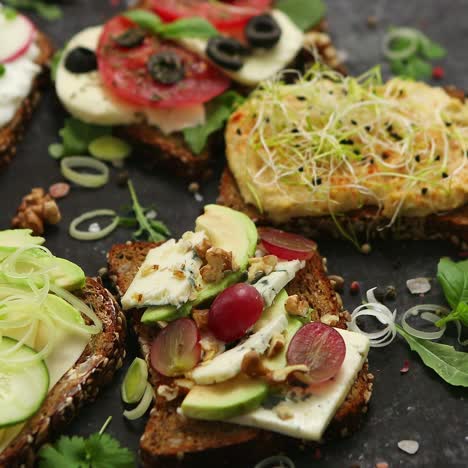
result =
M151 8L151 2L149 0L140 0L135 6L137 8ZM306 47L298 54L294 63L286 68L302 71L306 68L306 64L310 64L313 60L311 50L316 48L324 63L343 71L337 52L325 31L326 23L322 21L306 35ZM242 94L249 91L245 88L238 88L237 90ZM132 142L137 149L136 154L143 156L154 166L164 167L169 169L171 173L189 180L210 178L213 175L216 158L223 151L218 149L222 148L218 144L222 140L221 132L209 139L201 154L194 154L191 151L181 132L164 135L155 127L140 124L120 127L118 133Z

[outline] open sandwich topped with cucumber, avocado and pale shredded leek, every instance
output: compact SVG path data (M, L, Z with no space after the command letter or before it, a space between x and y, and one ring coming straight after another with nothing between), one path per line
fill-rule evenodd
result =
M102 284L28 230L0 231L0 466L33 466L109 383L125 318Z

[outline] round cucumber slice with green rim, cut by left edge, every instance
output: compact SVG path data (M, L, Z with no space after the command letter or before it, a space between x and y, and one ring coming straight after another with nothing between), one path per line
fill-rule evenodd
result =
M0 352L15 346L18 341L3 337ZM23 345L9 356L33 357L34 349ZM35 414L49 391L49 371L44 361L30 364L0 364L0 429L26 421Z

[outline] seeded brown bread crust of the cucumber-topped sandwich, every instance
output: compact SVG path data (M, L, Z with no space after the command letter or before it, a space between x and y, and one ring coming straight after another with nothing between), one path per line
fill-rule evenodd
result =
M40 447L60 434L80 408L94 401L111 382L125 357L126 321L113 296L101 282L88 278L79 293L102 320L103 331L91 338L76 364L49 392L41 409L0 453L0 466L32 467Z

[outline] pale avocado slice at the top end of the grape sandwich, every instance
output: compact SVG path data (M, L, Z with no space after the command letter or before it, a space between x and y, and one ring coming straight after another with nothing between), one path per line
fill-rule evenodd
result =
M205 231L214 247L232 252L241 270L247 268L258 241L257 228L244 213L221 205L206 205L195 221L195 231Z

